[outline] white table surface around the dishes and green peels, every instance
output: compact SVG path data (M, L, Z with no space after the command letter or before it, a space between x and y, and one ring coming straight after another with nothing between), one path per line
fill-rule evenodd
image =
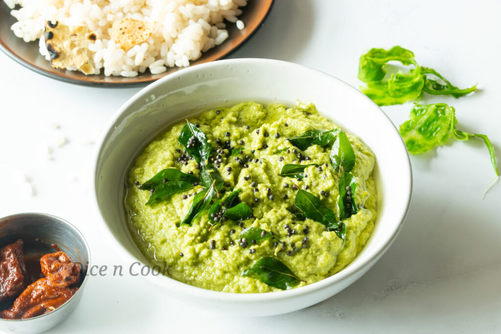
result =
M458 129L485 133L501 168L498 0L277 0L265 25L232 57L281 59L358 87L358 59L371 47L401 45L422 66L478 91L461 99L426 97L456 108ZM87 172L102 129L139 88L79 87L38 75L0 54L0 216L41 211L63 217L87 237L94 264L128 267L110 252L89 211ZM395 125L411 104L384 107ZM44 128L54 122L57 130ZM40 157L54 136L69 143ZM501 183L480 140L450 141L411 157L414 189L400 235L356 283L306 309L271 317L228 317L192 309L144 278L90 277L82 301L52 332L499 332L501 331ZM35 190L26 196L21 170Z

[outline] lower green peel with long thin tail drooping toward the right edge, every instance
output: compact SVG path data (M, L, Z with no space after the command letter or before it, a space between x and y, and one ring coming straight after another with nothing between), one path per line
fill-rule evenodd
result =
M494 147L487 136L456 130L456 124L457 119L453 107L445 103L426 106L416 104L410 112L409 120L400 125L399 131L411 154L429 151L433 147L445 143L451 135L457 140L467 140L469 136L481 138L489 151L492 168L496 175L499 175Z

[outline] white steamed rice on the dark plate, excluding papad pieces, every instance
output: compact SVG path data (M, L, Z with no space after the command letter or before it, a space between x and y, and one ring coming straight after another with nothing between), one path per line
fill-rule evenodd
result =
M45 21L66 26L87 26L97 34L89 44L95 74L135 77L147 69L152 74L167 67L187 67L201 53L228 38L223 20L244 24L237 19L239 7L247 0L4 0L18 20L14 34L25 42L40 39L40 53L49 60L45 47ZM14 10L16 5L19 10ZM151 37L124 51L109 35L115 21L123 18L158 22ZM69 70L76 70L75 67Z

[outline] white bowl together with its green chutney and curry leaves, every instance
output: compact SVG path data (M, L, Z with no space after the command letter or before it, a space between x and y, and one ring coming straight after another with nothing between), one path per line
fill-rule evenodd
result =
M110 244L127 263L158 266L144 277L161 291L272 315L374 265L403 224L412 176L398 131L353 87L235 59L168 75L124 104L91 186Z

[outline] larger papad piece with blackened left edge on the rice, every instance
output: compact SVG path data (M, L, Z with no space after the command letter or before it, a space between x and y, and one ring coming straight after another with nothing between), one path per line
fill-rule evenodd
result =
M45 24L45 45L50 55L52 67L66 69L75 66L86 75L93 74L94 66L89 61L87 48L88 35L89 29L85 26L69 27L58 24L58 22L53 24L47 21Z

